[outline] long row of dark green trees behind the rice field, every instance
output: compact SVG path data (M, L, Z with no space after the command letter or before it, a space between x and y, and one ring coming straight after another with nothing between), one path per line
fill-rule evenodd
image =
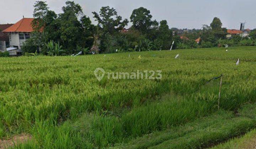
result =
M129 21L112 7L105 6L99 12L92 12L97 22L94 25L79 4L74 1L66 1L65 4L63 12L56 14L49 10L47 2L36 1L32 22L34 32L22 46L24 53L40 52L54 56L80 51L98 54L167 50L172 41L175 41L174 49L207 48L220 46L220 41L226 40L226 28L222 28L219 18L214 18L210 26L204 25L202 29L180 35L169 28L166 20L153 20L150 10L140 7L132 11L132 27L124 31ZM195 39L199 37L200 43L196 43ZM255 36L252 39L256 39Z

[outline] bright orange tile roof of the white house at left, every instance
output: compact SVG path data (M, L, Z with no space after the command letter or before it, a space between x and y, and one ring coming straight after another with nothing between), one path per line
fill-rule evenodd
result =
M17 23L6 28L3 32L33 32L32 21L34 18L22 18Z

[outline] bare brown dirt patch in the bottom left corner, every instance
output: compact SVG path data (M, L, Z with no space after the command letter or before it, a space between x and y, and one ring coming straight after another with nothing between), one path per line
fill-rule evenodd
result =
M20 134L18 136L14 136L9 140L0 140L0 149L4 149L9 146L14 146L17 143L26 142L27 140L31 140L31 136L28 134Z

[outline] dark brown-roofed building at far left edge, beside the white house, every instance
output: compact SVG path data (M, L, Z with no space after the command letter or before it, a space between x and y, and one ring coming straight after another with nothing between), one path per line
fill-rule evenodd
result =
M10 47L9 35L2 31L12 25L13 24L0 24L0 52L4 52L6 48Z

